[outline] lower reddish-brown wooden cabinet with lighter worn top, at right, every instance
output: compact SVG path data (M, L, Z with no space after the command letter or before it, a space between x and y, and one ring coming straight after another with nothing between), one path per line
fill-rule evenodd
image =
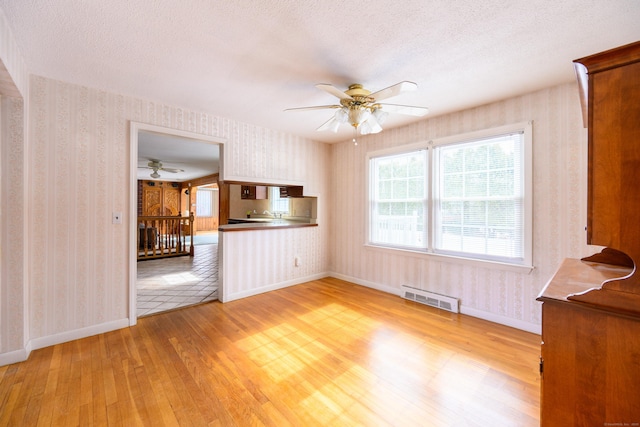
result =
M567 259L538 297L541 426L640 422L640 313L573 300L630 272Z

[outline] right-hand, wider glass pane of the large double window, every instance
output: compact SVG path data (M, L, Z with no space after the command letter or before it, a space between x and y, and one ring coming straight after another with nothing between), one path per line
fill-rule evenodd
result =
M522 259L523 144L517 133L436 149L436 251Z

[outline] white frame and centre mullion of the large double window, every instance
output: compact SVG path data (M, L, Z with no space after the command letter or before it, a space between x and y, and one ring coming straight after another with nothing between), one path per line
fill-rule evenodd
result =
M437 251L435 249L435 188L439 181L437 176L438 166L436 165L435 149L447 145L459 145L465 142L476 142L483 139L498 137L500 135L519 133L523 135L522 147L522 191L524 197L523 203L523 257L521 261L513 259L501 259L500 257L487 257L485 255L473 256L471 253L462 253L450 251ZM533 261L533 122L519 122L499 127L483 129L474 132L457 134L430 141L407 144L399 147L392 147L375 152L369 152L366 155L366 221L365 221L365 246L376 250L388 250L396 253L397 251L407 251L415 254L424 255L426 257L436 257L439 260L452 261L464 264L473 264L481 266L497 266L498 268L515 269L515 271L530 272ZM425 213L425 226L427 227L427 245L425 249L413 248L398 245L385 245L371 241L372 236L372 205L373 205L373 171L372 160L380 157L389 157L403 153L410 153L418 150L428 150L426 171L427 171L427 203Z

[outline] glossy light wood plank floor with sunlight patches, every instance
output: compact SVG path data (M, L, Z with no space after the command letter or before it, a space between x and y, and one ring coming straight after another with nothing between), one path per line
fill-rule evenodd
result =
M0 425L537 426L538 335L337 279L0 367Z

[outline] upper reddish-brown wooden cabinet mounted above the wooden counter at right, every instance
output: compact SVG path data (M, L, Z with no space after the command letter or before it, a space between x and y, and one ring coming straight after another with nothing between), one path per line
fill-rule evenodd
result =
M640 43L576 62L586 74L580 81L589 129L587 241L626 252L640 240L629 215L640 212Z

